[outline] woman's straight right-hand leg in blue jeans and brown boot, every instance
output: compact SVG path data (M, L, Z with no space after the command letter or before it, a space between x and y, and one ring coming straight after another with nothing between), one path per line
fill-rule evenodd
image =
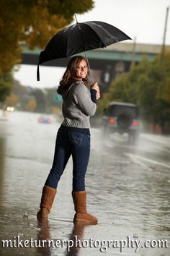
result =
M85 174L89 163L90 135L72 132L69 135L73 157L73 221L97 224L97 218L86 212Z

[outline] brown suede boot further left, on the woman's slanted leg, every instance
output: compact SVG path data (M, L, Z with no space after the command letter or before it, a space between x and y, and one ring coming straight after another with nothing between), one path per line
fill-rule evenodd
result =
M48 214L50 213L50 209L53 205L53 200L57 189L53 189L53 187L44 186L42 189L42 197L40 202L40 210L37 212L37 219L48 218Z

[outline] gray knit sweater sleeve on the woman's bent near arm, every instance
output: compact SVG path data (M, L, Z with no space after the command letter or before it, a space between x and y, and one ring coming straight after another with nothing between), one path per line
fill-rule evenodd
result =
M80 82L76 85L73 92L73 98L87 116L94 116L97 110L97 104L91 101L91 95L88 92L88 88L84 85L84 82Z

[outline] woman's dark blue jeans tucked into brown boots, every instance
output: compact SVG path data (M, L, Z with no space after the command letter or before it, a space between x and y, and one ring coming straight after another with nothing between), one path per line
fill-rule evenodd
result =
M73 191L85 190L85 174L90 155L90 132L81 129L61 127L58 129L53 166L45 182L46 186L57 188L68 159L73 158Z

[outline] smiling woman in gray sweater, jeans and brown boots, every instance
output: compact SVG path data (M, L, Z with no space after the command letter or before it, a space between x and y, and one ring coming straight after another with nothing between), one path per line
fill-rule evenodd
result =
M58 182L68 159L73 158L73 203L74 222L97 223L97 218L86 213L85 174L90 153L90 122L97 109L100 98L97 82L89 86L89 69L86 59L74 56L58 87L63 97L63 123L58 129L55 142L53 166L42 189L40 210L37 218L48 218L57 192Z

